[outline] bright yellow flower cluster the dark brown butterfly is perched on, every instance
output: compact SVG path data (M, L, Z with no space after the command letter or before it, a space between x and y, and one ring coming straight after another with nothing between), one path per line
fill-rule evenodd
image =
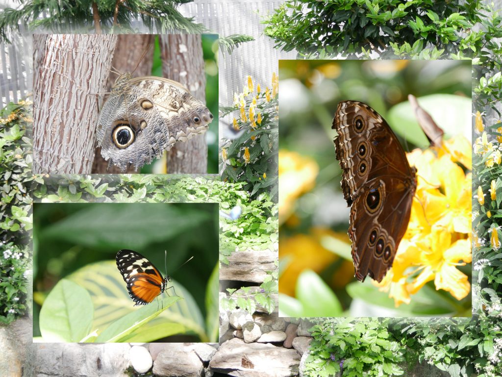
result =
M457 300L470 291L468 277L457 269L472 260L470 144L463 137L445 141L442 149L408 154L417 168L417 190L408 229L399 244L392 269L381 283L396 307L410 303L427 282L434 281ZM463 139L463 140L462 140Z

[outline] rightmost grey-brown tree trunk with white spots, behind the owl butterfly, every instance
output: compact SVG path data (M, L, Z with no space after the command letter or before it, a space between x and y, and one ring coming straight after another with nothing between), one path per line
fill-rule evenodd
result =
M162 35L163 75L186 86L205 103L206 76L200 35ZM217 114L215 114L217 116ZM168 173L207 173L207 144L204 135L178 142L167 155Z

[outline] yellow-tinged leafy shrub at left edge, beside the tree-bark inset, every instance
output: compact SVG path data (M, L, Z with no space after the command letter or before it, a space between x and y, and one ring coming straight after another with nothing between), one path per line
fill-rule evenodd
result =
M29 189L32 169L30 103L9 103L0 110L0 239L27 243L32 228Z

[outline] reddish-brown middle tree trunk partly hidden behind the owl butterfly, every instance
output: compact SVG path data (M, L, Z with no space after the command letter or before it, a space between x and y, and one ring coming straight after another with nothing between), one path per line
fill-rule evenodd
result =
M131 72L133 73L134 77L149 76L152 73L154 39L155 36L150 34L118 35L111 66L121 73ZM143 56L143 53L145 53L145 56ZM115 82L116 78L117 74L110 72L110 75L108 76L108 82L106 84L106 92L110 91L110 88ZM128 168L127 172L137 173L137 171L134 169L134 165L131 165L131 167ZM115 165L110 165L108 167L108 161L105 161L101 157L101 148L98 147L94 156L92 173L111 174L123 173L123 171Z

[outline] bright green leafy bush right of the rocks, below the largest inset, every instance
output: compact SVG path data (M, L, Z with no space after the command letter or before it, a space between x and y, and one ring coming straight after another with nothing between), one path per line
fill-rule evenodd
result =
M328 377L343 367L344 377L392 376L404 373L405 348L379 318L316 318L304 373Z

